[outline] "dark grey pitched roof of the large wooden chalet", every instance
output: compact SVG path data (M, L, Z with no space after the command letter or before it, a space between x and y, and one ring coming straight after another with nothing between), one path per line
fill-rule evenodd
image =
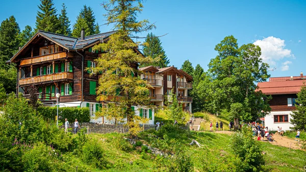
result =
M100 41L106 40L110 35L116 32L117 31L111 31L96 35L90 35L86 36L84 40L81 40L81 38L74 38L71 36L38 30L37 33L27 43L25 43L8 62L11 62L16 56L18 56L19 53L24 49L24 47L26 47L37 36L42 36L52 42L55 42L56 44L59 44L67 50L79 50L91 46Z

